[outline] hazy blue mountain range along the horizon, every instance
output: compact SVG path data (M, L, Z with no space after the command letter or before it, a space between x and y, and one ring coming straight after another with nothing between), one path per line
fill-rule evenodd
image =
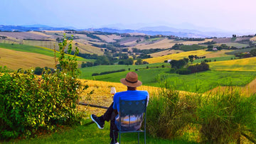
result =
M189 28L195 26L184 24ZM120 24L112 25L112 27L121 26ZM182 26L183 27L183 26ZM174 28L169 26L147 26L137 30L135 29L119 29L119 28L87 28L87 29L76 29L74 27L55 28L46 25L25 25L25 26L4 26L0 25L0 31L63 31L63 30L75 30L75 31L102 31L109 33L144 33L146 35L175 35L178 37L187 38L209 38L209 37L231 37L233 34L239 35L239 33L225 32L225 31L198 31L195 29L183 29Z

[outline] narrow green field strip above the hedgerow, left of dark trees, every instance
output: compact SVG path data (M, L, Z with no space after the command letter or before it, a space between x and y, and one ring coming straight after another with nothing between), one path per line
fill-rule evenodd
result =
M107 72L112 70L120 70L125 69L128 70L129 68L134 71L135 69L145 69L146 66L149 67L161 67L161 65L165 65L165 67L170 67L169 63L154 63L154 64L147 64L147 65L98 65L95 67L84 67L81 68L81 79L92 79L93 73L100 73L100 72ZM116 74L116 73L114 73Z

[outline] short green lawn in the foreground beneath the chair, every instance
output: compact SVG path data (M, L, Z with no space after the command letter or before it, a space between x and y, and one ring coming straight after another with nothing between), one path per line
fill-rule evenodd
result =
M89 117L89 116L88 116ZM25 140L11 140L9 143L110 143L110 123L105 123L105 128L100 130L95 123L90 123L87 118L82 121L82 125L65 128L55 133L40 136L38 138L31 138ZM140 142L144 143L144 135L140 135ZM184 139L184 140L183 140ZM146 143L195 143L189 142L186 138L180 140L166 140L160 138L152 138L146 135ZM119 140L119 139L118 139ZM137 133L122 134L121 143L137 143ZM7 143L7 142L4 142Z

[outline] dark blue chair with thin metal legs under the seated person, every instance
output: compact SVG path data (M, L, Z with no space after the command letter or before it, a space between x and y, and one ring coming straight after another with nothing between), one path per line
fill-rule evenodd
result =
M138 143L139 143L139 133L144 133L144 143L146 144L146 103L147 99L139 101L126 101L119 99L119 143L121 143L121 133L138 133ZM137 131L124 131L122 130L121 117L129 116L129 125L131 124L130 116L144 114L144 131L141 129Z

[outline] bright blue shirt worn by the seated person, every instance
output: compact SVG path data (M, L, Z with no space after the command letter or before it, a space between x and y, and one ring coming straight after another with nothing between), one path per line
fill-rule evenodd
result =
M122 100L127 100L127 101L137 101L137 100L142 100L142 99L148 99L149 101L149 93L146 91L125 91L125 92L117 92L114 94L114 104L113 104L113 109L117 109L119 112L119 98ZM130 118L130 122L129 122ZM142 120L143 120L143 113L139 114L137 116L124 116L121 118L121 126L122 130L124 131L137 131L141 126L142 126ZM115 118L115 124L118 129L119 128L119 115L116 116Z

